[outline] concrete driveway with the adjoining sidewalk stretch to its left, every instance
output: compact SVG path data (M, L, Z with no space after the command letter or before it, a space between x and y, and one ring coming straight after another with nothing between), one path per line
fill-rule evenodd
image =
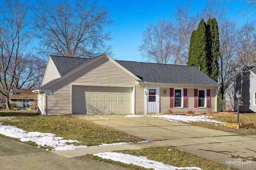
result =
M240 136L186 123L155 117L124 117L124 115L74 115L100 125L112 127L149 142L126 145L88 147L78 150L52 151L66 157L81 156L113 150L168 147L184 150L215 162L244 170L256 170L256 135ZM104 119L102 119L104 118ZM234 164L241 160L242 164Z

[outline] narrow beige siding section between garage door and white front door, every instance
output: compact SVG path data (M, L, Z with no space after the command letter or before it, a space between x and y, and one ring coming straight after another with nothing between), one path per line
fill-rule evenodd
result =
M135 87L135 114L145 113L145 88Z

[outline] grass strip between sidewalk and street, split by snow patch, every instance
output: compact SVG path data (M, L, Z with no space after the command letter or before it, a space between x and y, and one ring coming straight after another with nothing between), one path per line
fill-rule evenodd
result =
M114 151L114 152L131 154L135 156L146 156L150 160L155 160L155 161L162 162L164 164L169 164L176 167L199 167L199 168L202 168L203 170L216 170L216 169L235 170L235 168L230 168L228 166L224 166L222 164L216 163L212 160L208 160L206 158L202 158L194 154L183 152L182 150L177 150L172 147L151 147L151 148L145 148L145 149L139 149L139 150L120 150L120 151ZM141 166L124 164L122 162L103 159L98 156L93 156L92 154L87 154L85 155L85 157L116 164L118 166L123 166L123 167L131 168L134 170L148 170Z

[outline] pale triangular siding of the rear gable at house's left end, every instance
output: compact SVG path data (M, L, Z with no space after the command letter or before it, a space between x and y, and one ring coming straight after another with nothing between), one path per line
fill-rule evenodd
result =
M46 72L44 74L44 78L42 81L42 86L56 78L60 78L60 73L58 72L54 62L52 61L52 58L49 58L49 64L48 68L46 69Z

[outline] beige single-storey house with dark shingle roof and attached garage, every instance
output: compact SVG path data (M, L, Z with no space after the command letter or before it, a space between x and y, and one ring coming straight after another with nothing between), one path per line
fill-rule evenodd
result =
M33 92L42 115L205 113L219 87L194 66L51 55Z

